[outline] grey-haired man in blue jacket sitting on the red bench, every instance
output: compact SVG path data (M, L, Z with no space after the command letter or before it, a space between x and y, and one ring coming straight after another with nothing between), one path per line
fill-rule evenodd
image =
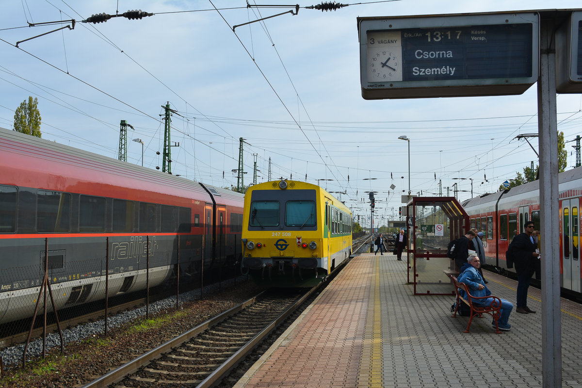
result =
M457 281L459 283L467 284L471 295L474 297L484 297L491 295L491 291L485 286L483 282L483 277L479 273L479 267L481 266L481 261L477 255L470 255L467 258L467 262L463 265L461 269L461 275ZM461 293L464 294L464 290L461 289ZM466 298L466 295L463 295ZM494 301L494 298L480 299L477 304L482 304L489 306ZM499 318L498 327L499 330L509 330L511 325L509 325L509 314L513 309L512 302L502 299L501 300L501 317ZM495 327L495 321L493 322L493 327Z

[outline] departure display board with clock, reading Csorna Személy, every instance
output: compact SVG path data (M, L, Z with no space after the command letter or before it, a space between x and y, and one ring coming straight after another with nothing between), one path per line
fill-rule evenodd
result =
M362 95L523 93L538 77L538 19L533 12L359 18Z

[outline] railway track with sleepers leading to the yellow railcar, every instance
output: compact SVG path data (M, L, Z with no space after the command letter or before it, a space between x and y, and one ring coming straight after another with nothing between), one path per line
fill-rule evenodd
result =
M319 287L264 293L134 358L83 388L211 387ZM301 292L300 292L301 291Z

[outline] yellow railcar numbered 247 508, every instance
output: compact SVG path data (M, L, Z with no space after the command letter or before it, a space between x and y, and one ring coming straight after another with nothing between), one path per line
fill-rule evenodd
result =
M256 184L244 196L242 242L242 268L255 282L312 286L352 254L352 213L315 184Z

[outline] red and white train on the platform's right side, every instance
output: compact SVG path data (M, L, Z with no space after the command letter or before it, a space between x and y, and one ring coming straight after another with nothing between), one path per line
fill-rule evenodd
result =
M564 290L580 295L582 167L560 173L558 183L560 238L556 243L560 246L560 284ZM523 233L528 220L533 220L535 230L541 229L539 181L472 198L463 202L463 208L469 214L471 227L484 234L486 263L514 272L507 268L505 258L514 234Z

